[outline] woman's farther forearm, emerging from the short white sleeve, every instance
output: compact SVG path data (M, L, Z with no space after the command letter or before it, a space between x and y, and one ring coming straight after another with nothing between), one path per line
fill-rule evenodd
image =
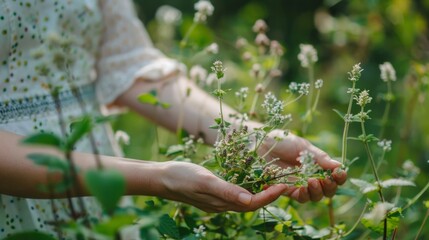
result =
M156 90L158 99L170 104L170 107L164 109L138 101L140 94L151 90ZM150 83L136 81L128 91L118 98L116 104L126 105L171 131L176 131L178 122L182 121L182 127L188 133L194 136L202 136L208 144L213 144L216 141L218 132L209 127L215 124L215 118L220 117L219 101L185 77L173 77L170 80ZM236 114L236 111L227 104L223 104L225 120L234 124L234 119L230 118L231 114ZM248 122L246 125L250 127L259 126L256 122Z

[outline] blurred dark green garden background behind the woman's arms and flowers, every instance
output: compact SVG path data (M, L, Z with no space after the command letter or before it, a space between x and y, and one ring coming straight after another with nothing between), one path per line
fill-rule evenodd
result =
M179 47L179 42L193 23L196 1L134 2L154 44L166 55L181 60L188 68L198 63L209 69L216 59L227 62L231 69L227 72L227 81L233 80L227 84L235 90L250 81L247 76L249 66L242 60L236 40L243 37L253 41L252 26L257 19L267 22L267 36L279 41L285 50L279 67L282 76L273 85L273 91L280 95L283 90L279 89L286 89L290 82L307 81L307 73L300 66L297 55L301 43L312 44L319 58L315 76L324 80L324 87L315 120L317 124L310 125L311 134L307 137L334 157L341 155L344 123L332 109L346 110L349 98L346 91L351 86L347 72L354 64L361 63L364 71L358 88L370 90L373 97L369 106L372 120L367 123L368 132L378 136L386 106L383 94L387 91L386 84L380 79L379 65L391 62L397 81L392 84L394 99L383 138L392 140L392 151L387 153L380 173L381 176L397 177L406 160L420 168L417 187L402 190L403 196L408 198L429 181L429 0L213 0L213 16L208 18L207 24L196 26L189 35L189 48L185 51ZM218 54L193 54L214 42L219 46ZM297 119L302 114L299 106L288 110ZM118 117L114 127L130 135L130 144L124 145L128 157L165 160L157 153L159 145L174 143L170 140L173 135L131 112ZM359 134L358 126L352 126L349 135ZM153 144L155 141L159 144ZM373 145L377 152L376 144ZM350 156L360 156L349 175L359 178L366 161L364 148L362 143L350 141L349 149ZM388 198L394 198L395 194L387 193ZM420 226L422 201L429 200L429 194L420 200L413 207L415 211L404 216L406 224L399 228L398 239L406 239L407 231L415 232ZM316 208L312 210L317 211ZM351 211L348 214L357 213ZM347 215L339 218L346 219Z

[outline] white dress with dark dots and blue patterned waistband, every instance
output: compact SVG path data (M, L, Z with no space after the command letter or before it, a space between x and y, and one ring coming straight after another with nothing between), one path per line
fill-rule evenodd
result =
M67 54L61 52L65 45ZM64 56L70 62L67 68L62 65ZM153 48L130 1L0 0L1 131L61 134L50 95L55 87L61 87L59 99L68 125L82 115L71 85L78 87L86 111L97 114L137 77L151 81L180 69L179 63ZM118 154L109 126L99 126L94 135L102 154ZM91 152L88 139L79 142L77 150ZM67 202L54 202L57 217L70 219ZM92 198L85 204L93 216L100 214ZM53 233L53 214L49 200L0 194L0 239L23 230Z

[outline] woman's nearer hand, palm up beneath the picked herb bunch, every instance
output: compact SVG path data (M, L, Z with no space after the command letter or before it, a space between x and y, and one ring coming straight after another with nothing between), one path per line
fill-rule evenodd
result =
M160 178L164 186L160 197L188 203L206 212L254 211L287 190L286 185L273 185L253 195L204 167L187 162L166 162Z

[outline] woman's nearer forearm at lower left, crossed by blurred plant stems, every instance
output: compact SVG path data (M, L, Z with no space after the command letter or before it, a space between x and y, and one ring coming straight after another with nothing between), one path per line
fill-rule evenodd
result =
M45 167L34 164L27 158L30 153L47 153L61 157L61 152L52 148L24 146L22 137L0 131L0 194L26 198L63 198L65 193L52 196L40 190L40 186L59 183L63 180L60 172L48 172ZM7 149L7 151L5 150ZM89 195L83 176L85 171L96 167L93 154L73 152L73 161L78 170L77 188L71 191L72 196ZM165 163L145 162L110 156L101 156L106 169L116 169L126 179L127 195L162 195L164 187L161 175ZM75 189L79 189L76 192Z

